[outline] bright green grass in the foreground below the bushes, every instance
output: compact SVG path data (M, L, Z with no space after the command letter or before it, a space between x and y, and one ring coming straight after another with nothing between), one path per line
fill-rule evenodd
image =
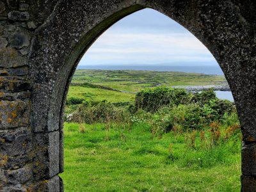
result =
M205 150L199 133L191 148L184 134L152 139L147 124L111 126L109 140L104 125L78 130L65 123L65 191L240 191L240 141Z

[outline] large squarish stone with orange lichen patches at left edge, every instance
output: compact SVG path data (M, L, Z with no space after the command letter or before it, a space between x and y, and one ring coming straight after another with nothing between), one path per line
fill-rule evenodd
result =
M0 101L0 130L24 127L30 123L29 103L22 100Z

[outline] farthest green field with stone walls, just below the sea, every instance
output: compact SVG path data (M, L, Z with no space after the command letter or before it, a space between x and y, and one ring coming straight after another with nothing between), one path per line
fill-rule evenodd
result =
M224 76L146 70L76 70L73 83L93 83L138 92L148 86L193 86L227 84Z

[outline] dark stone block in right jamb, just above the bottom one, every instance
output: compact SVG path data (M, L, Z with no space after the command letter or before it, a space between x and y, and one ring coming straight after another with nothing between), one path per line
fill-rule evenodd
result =
M256 176L256 143L243 142L242 145L242 173Z

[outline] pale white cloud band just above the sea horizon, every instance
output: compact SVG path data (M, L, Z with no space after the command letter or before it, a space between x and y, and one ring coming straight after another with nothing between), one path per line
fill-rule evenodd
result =
M105 33L90 47L85 63L166 63L171 61L211 61L211 52L193 35Z

